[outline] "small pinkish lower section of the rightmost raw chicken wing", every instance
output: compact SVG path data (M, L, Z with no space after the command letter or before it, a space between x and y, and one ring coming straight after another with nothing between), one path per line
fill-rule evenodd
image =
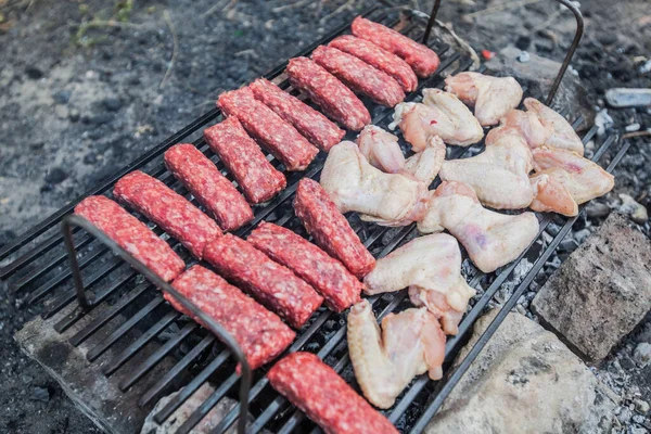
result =
M567 171L558 167L533 175L529 180L535 197L529 208L539 213L553 212L569 217L577 215L578 204L565 187L569 177Z

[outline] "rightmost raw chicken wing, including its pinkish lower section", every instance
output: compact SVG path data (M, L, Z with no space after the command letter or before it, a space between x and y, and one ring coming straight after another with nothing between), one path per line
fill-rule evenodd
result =
M615 187L615 178L611 174L572 151L542 146L535 149L533 155L536 174L532 182L542 191L532 203L534 210L554 210L575 216L578 213L577 205L602 196ZM576 206L572 206L567 197Z

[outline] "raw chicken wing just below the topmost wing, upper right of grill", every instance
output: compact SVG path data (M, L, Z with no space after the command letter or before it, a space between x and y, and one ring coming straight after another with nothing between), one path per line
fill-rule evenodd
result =
M513 110L500 122L500 126L486 136L486 145L499 140L507 131L515 129L524 137L531 149L558 148L584 154L584 145L570 123L534 98L524 100L526 112Z

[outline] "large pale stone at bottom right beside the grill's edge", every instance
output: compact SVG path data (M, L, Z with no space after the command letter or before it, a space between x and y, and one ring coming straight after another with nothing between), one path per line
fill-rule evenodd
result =
M456 365L497 311L477 320ZM553 333L510 312L425 433L607 433L617 399Z

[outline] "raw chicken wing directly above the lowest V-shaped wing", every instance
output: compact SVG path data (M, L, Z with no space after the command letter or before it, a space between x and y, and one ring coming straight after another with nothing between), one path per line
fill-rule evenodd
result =
M461 276L461 251L445 233L420 237L378 259L363 279L365 293L381 294L409 286L409 298L425 306L447 334L457 334L468 301L475 291Z

